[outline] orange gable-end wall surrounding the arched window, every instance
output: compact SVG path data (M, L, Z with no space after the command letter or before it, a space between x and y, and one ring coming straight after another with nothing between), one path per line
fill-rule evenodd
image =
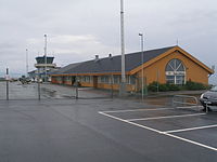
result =
M157 81L157 71L158 71L158 82L166 83L165 68L167 63L173 58L178 58L183 63L187 69L186 70L187 81L191 80L194 82L208 84L208 71L179 52L174 52L167 55L166 57L153 63L149 67L144 68L143 72L144 77L146 77L146 83L150 84L153 81ZM141 70L138 72L138 75L140 78Z

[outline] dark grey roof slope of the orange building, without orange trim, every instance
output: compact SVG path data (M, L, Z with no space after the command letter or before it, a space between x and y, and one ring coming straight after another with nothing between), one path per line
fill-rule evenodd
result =
M143 63L149 62L156 56L165 53L174 46L150 50L143 52ZM130 71L140 65L142 54L141 52L130 53L125 55L125 67L126 71ZM71 64L63 67L54 75L66 75L66 73L104 73L104 72L120 72L122 71L122 55L99 58L99 60L92 59L88 62Z

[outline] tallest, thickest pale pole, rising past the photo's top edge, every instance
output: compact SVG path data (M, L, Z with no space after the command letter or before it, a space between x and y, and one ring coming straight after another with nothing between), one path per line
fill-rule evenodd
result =
M120 83L119 95L124 96L126 94L124 0L120 0L120 42L122 42L122 83Z

